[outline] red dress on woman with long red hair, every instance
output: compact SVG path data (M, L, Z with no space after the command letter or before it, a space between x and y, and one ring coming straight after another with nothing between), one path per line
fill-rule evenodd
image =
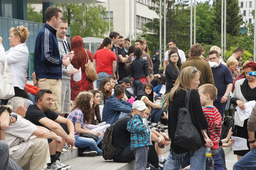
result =
M93 55L92 53L86 49L87 55L90 58L91 62L93 62ZM75 53L74 53L75 54ZM81 92L81 91L88 91L88 90L93 90L93 81L87 78L85 75L85 64L86 64L86 56L84 56L84 61L82 66L78 65L78 60L76 58L76 54L74 55L72 61L71 61L72 66L79 70L81 67L81 72L82 72L82 79L80 81L74 81L73 80L73 75L71 75L71 80L70 80L70 89L71 89L71 100L75 100L76 96Z

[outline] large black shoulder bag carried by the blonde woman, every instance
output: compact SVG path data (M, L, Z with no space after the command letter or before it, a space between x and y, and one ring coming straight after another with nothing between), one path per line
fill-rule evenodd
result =
M202 139L189 113L190 93L191 89L188 91L188 97L185 99L185 107L179 109L174 143L189 150L197 151L202 146Z

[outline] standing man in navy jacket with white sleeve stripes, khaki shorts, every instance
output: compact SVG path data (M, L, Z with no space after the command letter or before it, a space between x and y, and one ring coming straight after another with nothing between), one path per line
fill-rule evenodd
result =
M68 66L74 54L67 53L60 57L55 28L61 22L61 10L54 6L45 11L46 24L36 37L34 68L36 80L39 81L40 89L52 91L53 103L50 106L54 112L60 112L62 67ZM68 59L69 57L69 59Z

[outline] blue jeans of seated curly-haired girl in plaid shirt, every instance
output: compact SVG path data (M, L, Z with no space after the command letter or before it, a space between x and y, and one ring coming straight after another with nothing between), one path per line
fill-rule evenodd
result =
M95 142L94 139L92 138L87 138L87 137L81 137L81 136L75 136L75 145L79 148L86 148L89 147L90 150L92 151L97 151L97 155L102 155L102 151L100 148L98 148L98 144L100 141L102 141L102 136L98 138L98 141Z

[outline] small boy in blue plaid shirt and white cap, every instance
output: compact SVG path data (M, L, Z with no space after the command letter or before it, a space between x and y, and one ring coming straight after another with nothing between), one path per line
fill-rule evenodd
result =
M151 145L150 129L145 116L147 109L144 102L137 100L132 104L134 116L127 123L127 131L131 132L131 150L134 151L136 163L134 170L147 168L148 145Z

